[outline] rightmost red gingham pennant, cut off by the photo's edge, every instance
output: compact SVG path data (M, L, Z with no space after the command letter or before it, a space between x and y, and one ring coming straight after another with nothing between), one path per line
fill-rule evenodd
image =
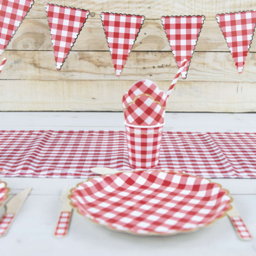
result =
M217 14L216 19L237 66L238 73L243 73L243 65L255 29L256 12L222 13Z

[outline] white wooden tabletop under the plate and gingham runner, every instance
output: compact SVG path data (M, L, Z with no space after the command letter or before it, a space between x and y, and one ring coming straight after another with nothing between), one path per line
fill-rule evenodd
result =
M0 130L124 130L123 114L113 112L0 112ZM256 114L167 113L165 131L256 132ZM196 232L139 237L108 230L73 213L69 234L53 232L65 185L83 179L1 178L10 198L28 186L31 194L0 238L0 256L256 256L256 179L212 179L230 190L254 239L240 240L227 216ZM0 217L4 207L0 208Z

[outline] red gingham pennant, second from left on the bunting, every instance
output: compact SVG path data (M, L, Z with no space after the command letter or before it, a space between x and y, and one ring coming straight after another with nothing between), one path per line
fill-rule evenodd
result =
M60 70L90 12L48 3L45 4L45 10L51 31L56 69Z

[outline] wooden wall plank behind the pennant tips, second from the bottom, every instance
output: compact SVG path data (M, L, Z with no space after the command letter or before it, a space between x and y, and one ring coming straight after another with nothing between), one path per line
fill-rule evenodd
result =
M55 69L52 51L6 51L4 57L8 61L0 79L103 80L106 84L107 80L148 78L171 83L177 72L172 52L131 52L120 77L105 51L71 51L61 71ZM185 81L256 82L256 53L249 53L243 74L238 74L230 53L195 52Z

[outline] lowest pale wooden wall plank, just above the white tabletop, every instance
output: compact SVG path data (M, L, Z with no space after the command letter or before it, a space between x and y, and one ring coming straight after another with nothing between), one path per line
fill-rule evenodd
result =
M134 81L2 80L0 109L4 111L122 111L121 99ZM155 81L165 92L169 84ZM21 89L22 88L22 89ZM17 93L19 92L19 93ZM168 111L253 112L254 83L178 81Z

